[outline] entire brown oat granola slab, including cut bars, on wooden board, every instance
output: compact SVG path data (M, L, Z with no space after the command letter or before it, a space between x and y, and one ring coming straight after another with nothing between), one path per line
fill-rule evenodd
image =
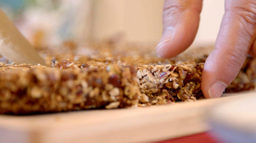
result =
M82 56L77 47L50 49L62 50L60 55L42 49L48 66L0 62L0 114L145 107L204 98L201 77L207 54L198 56L194 50L161 59L150 51L137 53L137 47L136 53L110 47L86 48ZM252 90L255 79L256 59L248 57L226 92Z

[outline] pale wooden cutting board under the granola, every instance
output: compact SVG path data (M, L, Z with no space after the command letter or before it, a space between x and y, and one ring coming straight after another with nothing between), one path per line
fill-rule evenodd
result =
M0 141L5 142L154 142L210 130L207 114L216 104L242 93L175 105L130 109L96 109L44 115L0 115Z

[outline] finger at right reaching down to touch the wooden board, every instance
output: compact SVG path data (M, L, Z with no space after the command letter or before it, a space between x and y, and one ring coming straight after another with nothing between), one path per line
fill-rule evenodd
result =
M256 1L225 1L225 14L220 25L215 49L207 58L202 73L205 98L218 98L236 78L248 51L255 51ZM256 55L254 55L256 56Z

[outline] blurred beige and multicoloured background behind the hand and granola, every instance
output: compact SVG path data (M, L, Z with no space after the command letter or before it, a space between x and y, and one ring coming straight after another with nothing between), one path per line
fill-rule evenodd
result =
M124 35L128 42L157 44L163 0L0 0L0 8L35 46ZM207 0L194 44L214 43L224 0Z

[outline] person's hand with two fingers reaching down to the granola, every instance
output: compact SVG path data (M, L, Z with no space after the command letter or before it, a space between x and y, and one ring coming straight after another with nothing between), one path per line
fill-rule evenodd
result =
M163 36L158 56L175 57L186 50L198 31L202 0L165 0ZM214 50L202 72L205 98L219 98L236 78L247 54L256 56L256 1L225 0L225 14Z

